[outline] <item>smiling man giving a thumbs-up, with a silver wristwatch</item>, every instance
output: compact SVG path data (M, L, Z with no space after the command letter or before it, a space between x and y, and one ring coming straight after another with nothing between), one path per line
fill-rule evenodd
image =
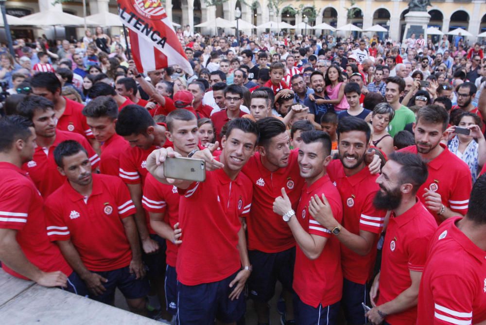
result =
M339 240L314 220L323 198L338 222L343 218L341 198L330 181L326 168L331 161L331 141L322 131L302 133L298 149L300 176L305 179L296 212L285 188L275 199L273 210L282 216L297 243L293 288L298 296L298 324L337 324L343 290ZM277 191L275 191L277 192Z

